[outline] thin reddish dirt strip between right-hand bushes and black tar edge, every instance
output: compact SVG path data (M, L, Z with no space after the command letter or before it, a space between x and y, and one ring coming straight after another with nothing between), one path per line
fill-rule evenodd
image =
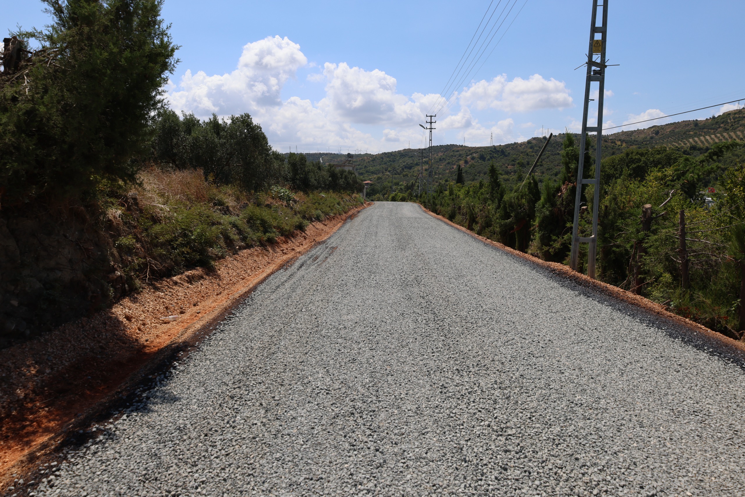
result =
M739 352L745 353L745 343L739 342L738 340L733 340L732 338L726 337L723 334L710 330L709 328L706 328L706 326L703 326L697 322L691 321L691 319L686 319L682 316L678 316L675 313L671 313L669 310L665 309L665 306L663 306L662 304L657 304L656 302L653 302L649 300L648 298L638 296L635 293L629 292L628 290L623 290L621 288L614 287L612 284L607 284L607 283L603 283L603 281L594 280L587 275L583 275L580 272L576 272L572 270L571 268L569 268L568 266L565 266L562 263L548 262L546 260L539 259L538 257L534 257L533 255L525 254L524 252L505 246L502 243L495 242L494 240L489 240L486 237L482 237L481 235L475 234L473 231L470 231L461 225L457 225L456 223L450 221L449 219L443 216L440 216L432 212L431 210L428 210L422 204L416 204L416 205L419 205L419 207L421 207L425 213L428 213L430 216L434 217L435 219L439 219L440 221L443 221L446 224L451 225L453 228L457 228L458 230L463 231L463 233L469 234L471 237L475 238L476 240L484 242L489 246L498 248L499 250L504 251L507 254L513 255L515 257L519 257L522 260L525 260L529 263L533 263L536 266L540 266L543 269L547 269L549 272L551 272L553 275L558 276L559 278L570 280L582 287L588 287L592 290L597 291L598 293L602 293L604 296L615 298L616 300L620 300L626 304L631 304L635 307L641 307L641 309L646 310L647 312L653 313L656 316L661 317L662 319L666 319L668 321L674 322L676 325L682 325L683 327L688 328L688 330L690 331L694 331L697 334L703 334L709 339L717 340L719 343L721 343L724 346L735 348Z

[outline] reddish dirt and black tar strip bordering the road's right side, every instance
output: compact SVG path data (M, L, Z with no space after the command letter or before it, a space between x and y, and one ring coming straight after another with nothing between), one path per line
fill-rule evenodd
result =
M671 313L664 305L650 301L648 298L635 295L627 290L614 287L611 284L594 280L587 275L572 270L569 266L565 266L561 263L548 262L493 240L489 240L486 237L481 237L473 231L469 231L468 229L463 228L463 226L457 225L443 216L438 216L431 212L431 210L425 208L422 204L416 205L419 205L425 213L428 213L435 219L440 219L440 221L463 231L463 233L468 234L470 237L494 248L498 248L501 251L507 252L507 254L516 257L524 263L537 266L563 286L571 284L573 290L583 293L589 298L600 300L603 304L611 305L621 312L632 315L635 319L642 318L639 312L641 310L645 324L653 325L655 328L658 328L676 340L682 340L707 354L720 357L723 360L731 361L741 369L745 370L745 343L738 340L732 340L732 338L726 337L716 331L712 331L697 322L693 322L690 319Z

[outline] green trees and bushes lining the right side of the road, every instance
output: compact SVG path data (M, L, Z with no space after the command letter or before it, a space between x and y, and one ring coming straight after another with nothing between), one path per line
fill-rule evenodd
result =
M568 264L578 140L565 134L561 175L440 181L431 195L393 193L543 260ZM664 304L729 337L745 338L745 160L732 140L700 150L628 149L603 160L597 278ZM588 153L592 177L594 164ZM458 181L460 180L460 181ZM583 191L580 236L592 231L592 185ZM586 272L587 245L580 245Z

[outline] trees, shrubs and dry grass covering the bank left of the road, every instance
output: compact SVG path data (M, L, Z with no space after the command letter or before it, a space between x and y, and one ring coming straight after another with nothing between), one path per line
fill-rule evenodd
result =
M168 108L162 1L43 1L0 74L0 346L360 204L354 172L279 154L249 114Z

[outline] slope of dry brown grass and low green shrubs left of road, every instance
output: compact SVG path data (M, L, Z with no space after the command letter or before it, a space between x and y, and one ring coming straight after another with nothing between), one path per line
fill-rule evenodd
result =
M107 231L115 234L121 271L130 287L177 274L242 248L274 243L304 231L308 222L346 212L358 195L294 194L282 187L248 194L240 187L209 184L198 170L152 167L124 194L102 196Z

